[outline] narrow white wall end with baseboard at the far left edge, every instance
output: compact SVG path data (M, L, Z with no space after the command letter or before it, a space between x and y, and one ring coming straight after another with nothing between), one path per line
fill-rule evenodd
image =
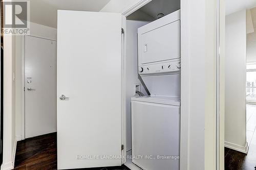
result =
M13 140L13 122L12 122L12 43L13 43L13 35L5 35L4 34L4 54L1 57L4 57L3 61L3 75L4 78L3 83L3 163L1 165L1 169L12 169L14 167L14 157L13 150L15 150L15 144L12 145Z

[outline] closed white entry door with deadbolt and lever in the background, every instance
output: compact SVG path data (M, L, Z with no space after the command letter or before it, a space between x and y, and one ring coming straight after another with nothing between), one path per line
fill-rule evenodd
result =
M56 132L56 41L25 36L25 137Z

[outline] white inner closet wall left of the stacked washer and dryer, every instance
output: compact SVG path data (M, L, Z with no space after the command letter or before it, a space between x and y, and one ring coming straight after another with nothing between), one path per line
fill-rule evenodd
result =
M141 84L138 75L138 28L144 26L146 21L126 22L126 151L132 149L132 125L131 125L131 98L135 92L135 84ZM147 95L141 84L141 91Z

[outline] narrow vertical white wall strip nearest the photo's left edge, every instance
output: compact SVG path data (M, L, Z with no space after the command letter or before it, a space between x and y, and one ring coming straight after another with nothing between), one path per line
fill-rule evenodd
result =
M2 56L1 56L2 57ZM15 136L15 36L4 35L4 143L1 169L12 169L16 151Z

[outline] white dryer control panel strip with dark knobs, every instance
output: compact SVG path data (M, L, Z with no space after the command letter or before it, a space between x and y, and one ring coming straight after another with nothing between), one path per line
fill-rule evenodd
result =
M166 62L160 64L152 65L143 65L138 67L139 74L148 75L148 74L167 74L169 72L177 72L181 69L180 61Z

